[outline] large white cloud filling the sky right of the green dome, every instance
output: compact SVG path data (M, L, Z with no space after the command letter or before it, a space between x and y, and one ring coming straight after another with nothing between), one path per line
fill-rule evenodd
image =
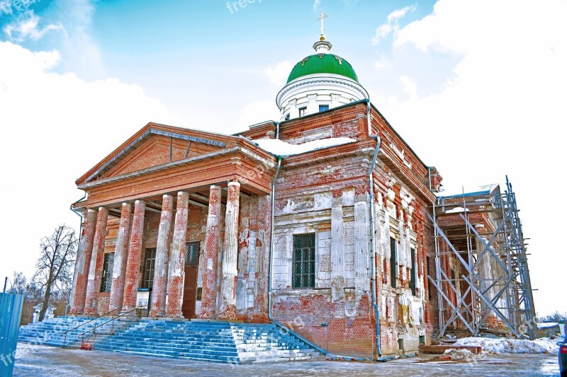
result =
M565 161L566 18L567 4L560 0L440 0L430 16L400 28L394 46L456 53L462 59L454 79L425 97L404 79L409 99L373 99L425 163L439 168L449 189L510 175L524 234L531 237L539 313L567 311L553 294L558 275L549 273L550 260L567 263L549 236L563 232L563 219L546 204L546 192L556 192L561 182L558 164Z

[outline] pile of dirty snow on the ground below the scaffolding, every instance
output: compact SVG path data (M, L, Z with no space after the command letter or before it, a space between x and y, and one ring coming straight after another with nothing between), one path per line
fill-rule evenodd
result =
M456 346L481 346L483 352L493 354L554 354L558 352L557 340L492 339L486 337L465 337L457 340Z

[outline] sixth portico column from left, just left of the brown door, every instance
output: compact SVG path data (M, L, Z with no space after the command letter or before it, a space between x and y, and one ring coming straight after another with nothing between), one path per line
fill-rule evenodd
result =
M169 256L167 278L167 311L170 318L183 318L183 288L185 282L185 243L187 242L187 216L189 214L189 192L177 194L172 253Z

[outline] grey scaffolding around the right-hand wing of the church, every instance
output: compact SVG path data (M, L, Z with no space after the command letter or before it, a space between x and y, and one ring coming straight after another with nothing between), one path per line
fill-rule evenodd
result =
M505 330L533 340L537 325L526 246L515 193L506 177L478 192L433 204L434 269L439 335L448 330ZM429 215L428 215L429 216Z

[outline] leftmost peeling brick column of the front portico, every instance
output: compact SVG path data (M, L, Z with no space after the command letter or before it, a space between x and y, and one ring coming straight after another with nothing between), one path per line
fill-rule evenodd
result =
M82 314L84 311L86 286L89 282L89 267L91 267L91 254L93 252L94 231L96 229L96 212L96 209L89 209L84 219L81 243L79 243L77 260L75 261L75 286L73 303L69 312L71 314Z

